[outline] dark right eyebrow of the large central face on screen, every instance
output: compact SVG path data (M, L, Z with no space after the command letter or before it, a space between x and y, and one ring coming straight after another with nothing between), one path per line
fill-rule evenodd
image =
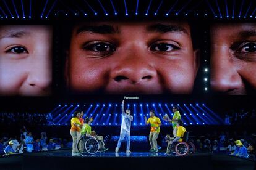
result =
M170 32L182 32L189 34L185 28L179 25L165 25L162 23L157 23L154 25L147 26L147 31L157 32L157 33L170 33Z

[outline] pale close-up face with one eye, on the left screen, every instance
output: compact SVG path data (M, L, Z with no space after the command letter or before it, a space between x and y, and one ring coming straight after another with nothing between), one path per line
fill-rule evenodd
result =
M51 94L52 27L0 26L0 95Z

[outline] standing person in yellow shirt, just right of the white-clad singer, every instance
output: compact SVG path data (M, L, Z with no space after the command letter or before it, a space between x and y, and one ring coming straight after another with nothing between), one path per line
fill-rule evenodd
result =
M150 124L151 129L150 129L150 135L149 135L149 140L150 140L150 152L156 153L158 152L157 148L157 138L160 132L160 126L161 126L161 121L158 117L155 116L155 111L151 110L150 111L150 118L147 119L146 116L144 116L145 119L145 124Z

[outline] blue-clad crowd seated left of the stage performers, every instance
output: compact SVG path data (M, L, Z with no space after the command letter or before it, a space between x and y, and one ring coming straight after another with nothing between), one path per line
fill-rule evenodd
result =
M12 155L24 152L40 152L46 150L58 150L59 148L71 148L72 142L67 139L50 138L46 132L41 136L33 136L25 127L20 130L20 136L1 137L0 155Z

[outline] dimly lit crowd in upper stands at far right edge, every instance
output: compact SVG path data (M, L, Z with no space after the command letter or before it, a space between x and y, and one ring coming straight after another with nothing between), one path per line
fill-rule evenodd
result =
M229 110L225 113L224 122L225 124L234 124L234 125L252 125L256 121L256 110L250 109L237 109Z

